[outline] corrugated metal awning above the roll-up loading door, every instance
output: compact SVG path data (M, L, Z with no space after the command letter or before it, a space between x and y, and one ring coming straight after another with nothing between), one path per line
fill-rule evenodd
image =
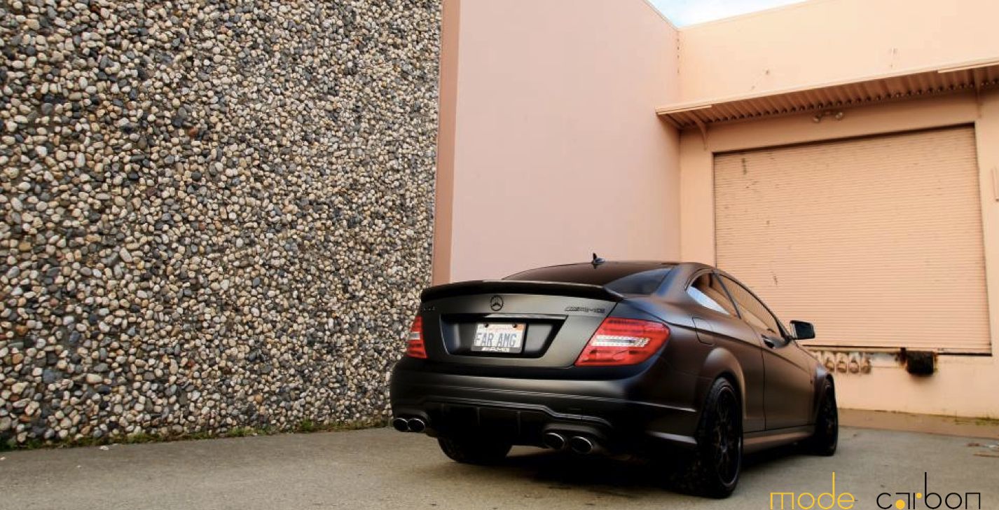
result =
M979 90L996 85L999 85L999 58L863 80L664 106L657 108L655 112L676 128L683 129L963 90Z

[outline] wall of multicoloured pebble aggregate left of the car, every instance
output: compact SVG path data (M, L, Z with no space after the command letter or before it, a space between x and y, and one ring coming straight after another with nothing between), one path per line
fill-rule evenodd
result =
M387 415L439 0L0 0L0 442Z

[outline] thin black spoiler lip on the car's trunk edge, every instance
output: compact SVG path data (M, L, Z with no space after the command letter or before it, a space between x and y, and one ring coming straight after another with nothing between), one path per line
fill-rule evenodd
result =
M523 279L478 279L458 281L425 288L420 293L424 301L469 294L542 294L588 297L619 302L624 296L601 285L560 281L530 281Z

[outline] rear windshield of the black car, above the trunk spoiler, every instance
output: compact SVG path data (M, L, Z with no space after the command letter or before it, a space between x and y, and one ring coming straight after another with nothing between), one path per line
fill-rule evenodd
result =
M650 294L659 288L672 268L664 263L604 262L595 267L591 263L573 263L528 269L504 279L586 283L622 294Z

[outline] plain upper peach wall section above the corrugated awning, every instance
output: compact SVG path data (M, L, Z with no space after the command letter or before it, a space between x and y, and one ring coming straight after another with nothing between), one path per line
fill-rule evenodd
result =
M679 102L999 59L997 19L991 0L811 0L686 27Z

